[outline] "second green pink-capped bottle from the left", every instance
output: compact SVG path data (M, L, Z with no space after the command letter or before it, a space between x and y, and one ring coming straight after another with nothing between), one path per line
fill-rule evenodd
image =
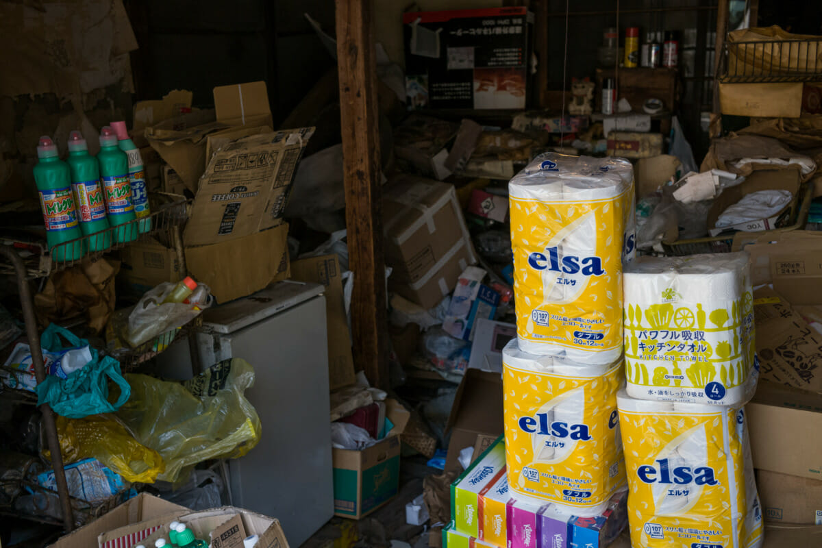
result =
M80 131L68 136L68 167L72 172L72 190L80 228L89 238L89 251L105 251L111 246L109 221L105 218L105 200L100 187L97 160L89 155L89 147Z

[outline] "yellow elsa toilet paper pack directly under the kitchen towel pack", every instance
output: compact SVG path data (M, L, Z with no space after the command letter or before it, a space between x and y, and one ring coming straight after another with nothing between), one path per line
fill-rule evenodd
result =
M744 408L617 400L631 546L761 546Z

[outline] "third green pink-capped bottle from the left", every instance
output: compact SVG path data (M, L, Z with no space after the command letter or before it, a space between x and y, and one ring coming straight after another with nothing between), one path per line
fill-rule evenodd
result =
M139 232L132 203L132 186L128 183L128 157L120 150L117 134L108 126L100 130L100 151L97 154L100 165L100 177L103 180L106 211L109 213L109 224L120 227L114 231L114 241L118 243L133 242Z

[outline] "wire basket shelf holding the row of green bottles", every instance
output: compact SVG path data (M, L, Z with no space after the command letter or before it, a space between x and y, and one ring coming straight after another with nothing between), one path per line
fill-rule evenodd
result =
M52 246L51 250L48 251L42 239L21 234L19 231L0 233L0 244L12 246L21 256L25 264L26 279L45 278L58 270L79 265L84 259L97 259L106 253L122 249L129 243L154 236L172 228L178 228L182 223L185 223L188 218L188 202L183 196L157 193L152 197L155 198L158 204L152 205L152 212L149 217L134 219L128 223L107 228L99 233L92 233L68 242L59 243ZM150 229L141 233L140 228L145 229L145 227L150 227ZM118 239L129 241L118 242ZM110 242L110 245L105 246L103 249L90 251L91 242L99 241ZM65 258L74 256L72 250L81 250L82 256L77 259ZM64 257L64 259L58 260L58 257ZM0 261L0 275L14 273L11 264Z

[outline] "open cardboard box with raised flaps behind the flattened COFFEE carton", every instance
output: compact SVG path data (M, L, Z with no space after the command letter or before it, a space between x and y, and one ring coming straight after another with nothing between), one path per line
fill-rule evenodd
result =
M237 127L273 127L266 82L221 85L214 89L215 110L183 114L145 129L145 138L186 187L196 193L207 165L208 137Z

